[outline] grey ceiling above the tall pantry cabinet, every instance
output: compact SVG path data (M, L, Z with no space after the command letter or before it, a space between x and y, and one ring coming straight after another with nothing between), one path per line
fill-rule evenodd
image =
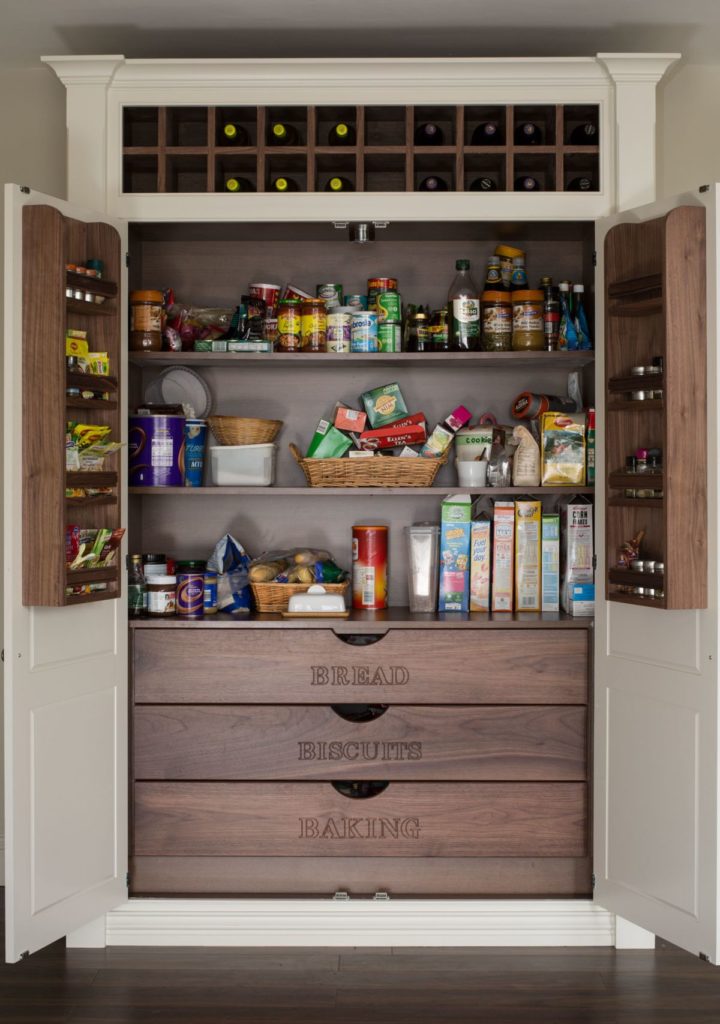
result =
M719 62L719 0L0 0L0 67L129 57L582 56Z

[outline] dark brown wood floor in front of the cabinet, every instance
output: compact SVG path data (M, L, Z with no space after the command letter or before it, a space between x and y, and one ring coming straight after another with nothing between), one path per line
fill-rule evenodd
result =
M0 893L2 890L0 890ZM720 1024L720 968L612 949L66 950L0 966L12 1024Z

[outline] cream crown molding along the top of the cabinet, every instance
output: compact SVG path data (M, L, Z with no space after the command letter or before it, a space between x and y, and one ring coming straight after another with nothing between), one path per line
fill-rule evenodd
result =
M65 85L602 85L658 82L679 53L598 53L590 57L353 57L297 59L128 59L122 54L42 57Z

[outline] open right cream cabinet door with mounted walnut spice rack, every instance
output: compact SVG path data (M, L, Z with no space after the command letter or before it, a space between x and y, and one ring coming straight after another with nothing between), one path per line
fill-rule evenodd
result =
M596 902L714 964L717 211L713 185L598 225L598 434L606 434L597 473L594 726ZM663 398L631 403L618 375L663 353ZM663 497L654 489L643 506L624 489L633 484L622 479L625 457L654 445L662 478L637 486L661 487ZM640 558L665 561L664 582L638 579L642 596L622 589L627 573L616 568L620 543L640 528Z

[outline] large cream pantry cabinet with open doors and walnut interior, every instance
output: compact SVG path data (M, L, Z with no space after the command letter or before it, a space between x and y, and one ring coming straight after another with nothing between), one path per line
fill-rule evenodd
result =
M617 912L717 959L715 583L707 610L621 607L605 601L598 572L595 629L564 615L414 616L405 608L401 527L437 517L439 499L456 487L452 465L442 467L432 488L320 489L305 485L289 450L290 442L306 444L329 403L354 401L368 387L395 379L435 422L459 402L506 418L518 391L561 394L568 372L578 372L586 402L595 401L604 422L604 387L595 389L596 375L605 380L603 239L616 223L662 214L629 208L653 198L654 85L672 58L48 61L68 86L71 199L92 204L101 219L120 218L127 231L121 234L128 253L123 295L126 286L171 286L183 298L226 305L250 280L281 275L311 288L340 276L354 291L368 276L388 272L399 278L406 301L439 305L458 256L481 267L495 245L513 242L528 252L533 278L547 272L584 281L598 327L593 353L181 356L202 374L216 413L284 421L277 486L123 486L122 521L132 550L203 555L229 530L253 553L301 540L346 561L352 523L380 518L391 527L391 607L322 627L272 616L136 623L129 691L122 601L20 607L19 567L7 544L23 517L15 498L6 516L15 581L6 589L8 957L113 911L128 896L129 865L133 898L122 912L145 912L149 901L138 897L173 896L183 913L207 915L208 934L217 921L201 896L229 897L243 912L241 897L271 897L253 903L259 908L253 920L261 922L255 941L273 935L280 941L281 934L287 940L291 923L298 923L294 914L320 921L323 900L339 890L361 898L347 908L335 905L336 922L355 920L343 914L355 913L362 898L378 891L414 898L425 922L419 941L432 941L428 897L452 897L442 912L453 920L482 913L479 897L559 897L558 913L570 912L571 897L598 915ZM526 154L510 144L510 127L516 115L540 106L553 112L543 114L552 152ZM288 157L304 167L303 183L322 184L323 174L336 169L352 174L349 164L334 162L354 160L354 191L263 190L271 173L266 162L280 157L266 146L263 119L266 127L268 112L289 108L297 109L303 152ZM403 142L394 153L372 152L395 144L369 134L373 118L385 124L383 131L397 127L392 118L377 117L389 108L404 112L397 121ZM218 145L217 126L239 109L247 115L251 144L235 164ZM346 109L355 111L361 129L355 152L319 152L323 118ZM504 118L501 156L467 146L473 119L491 109L501 109ZM437 165L418 152L414 136L411 143L411 127L427 110L453 112L452 152L437 154ZM597 171L597 188L560 190L573 168L566 161L577 157L565 151L566 112L585 117L588 110L597 112L599 142L583 159ZM552 178L554 190L507 190L525 158L535 162L528 170L546 174L546 183ZM468 173L492 174L493 161L506 189L469 190ZM369 177L373 168L384 177ZM256 193L219 191L229 170L254 175ZM426 171L451 174L455 187L417 191L417 176ZM35 195L14 194L13 202L18 208L22 202L56 205ZM701 211L693 216L705 214L710 252L715 203L713 189L680 204ZM346 224L357 220L376 223L374 245L347 242ZM16 273L10 294L19 294ZM715 302L711 287L707 369L713 381ZM6 312L11 328L13 315L19 316L16 309ZM124 422L127 403L141 400L177 357L128 356L124 329L122 346ZM6 349L6 380L18 358ZM9 464L17 474L16 402L6 408ZM712 494L714 414L707 429ZM601 510L611 468L600 444L600 566L608 557ZM514 492L493 495L506 493ZM540 497L550 508L561 495L542 488ZM711 515L712 558L716 537ZM709 580L716 577L711 566ZM132 719L127 761L126 707ZM27 737L29 722L32 745L16 739ZM65 744L58 749L66 729L71 758ZM40 762L45 774L36 770ZM66 828L79 840L55 869L51 808L59 787L77 791ZM288 903L283 896L307 899ZM158 913L170 912L163 900L150 902ZM503 936L513 905L493 905ZM392 904L376 909L395 912ZM111 932L115 920L111 912ZM337 940L332 927L313 927L320 929L313 941ZM380 927L371 926L359 941L380 941ZM141 941L141 932L135 934ZM588 941L588 934L563 932L560 941Z

